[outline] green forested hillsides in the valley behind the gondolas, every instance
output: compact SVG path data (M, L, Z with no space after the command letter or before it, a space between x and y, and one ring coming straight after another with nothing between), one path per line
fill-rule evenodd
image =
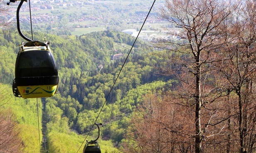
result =
M37 99L15 98L11 91L18 45L22 40L15 31L0 33L0 81L1 87L7 93L5 99L8 99L2 108L10 107L19 124L30 126L29 131L34 131L33 139L37 144ZM105 101L97 120L104 124L99 142L103 153L115 151L124 139L130 115L141 104L143 95L171 86L171 83L167 82L168 77L154 75L154 65L161 61L159 57L154 56L154 48L139 40L110 92L135 41L135 38L128 34L108 30L79 37L43 33L34 33L34 36L37 40L46 37L51 42L50 47L59 69L60 83L57 93L51 98L38 99L39 118L40 121L43 120L40 122L40 129L44 128L44 136L47 136L49 151L52 153L76 152ZM121 49L118 49L118 46ZM110 55L114 52L123 53L124 56L111 60ZM103 65L103 68L98 69L99 65ZM26 107L30 109L24 110ZM97 136L95 132L90 133L89 138ZM34 145L37 149L36 146L39 148L39 145Z

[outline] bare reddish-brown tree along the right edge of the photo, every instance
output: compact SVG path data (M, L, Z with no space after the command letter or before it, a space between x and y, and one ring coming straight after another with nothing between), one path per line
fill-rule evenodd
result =
M256 76L256 1L246 0L233 13L227 33L227 53L218 69L224 74L237 97L234 111L239 131L240 153L255 151L255 76Z

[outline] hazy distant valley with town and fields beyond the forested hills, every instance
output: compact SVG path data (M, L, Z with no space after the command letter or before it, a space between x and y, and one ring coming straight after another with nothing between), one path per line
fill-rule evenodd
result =
M149 5L138 4L137 1L131 2L115 2L114 1L78 1L78 0L30 0L32 23L38 26L38 28L49 29L68 29L68 31L74 31L81 28L102 27L102 29L110 29L123 31L129 33L132 36L137 36L139 29L134 25L141 26L146 18L146 15L150 9ZM118 3L118 4L116 4ZM129 4L130 3L130 4ZM144 2L145 3L145 2ZM9 19L15 20L17 11L17 5L19 1L12 5L10 12L12 17ZM120 5L121 4L121 5ZM119 7L117 7L117 6ZM158 7L159 4L158 4ZM111 8L111 10L110 10ZM139 9L138 9L139 8ZM44 11L45 10L45 11ZM94 13L92 13L94 11ZM30 23L29 16L29 1L24 2L20 9L20 23ZM96 13L95 13L96 12ZM65 23L63 22L65 19ZM168 22L162 19L156 11L152 11L151 15L146 20L146 25L143 31L141 31L139 37L152 41L158 37L167 39L180 39L177 34L179 31L177 28L172 33L167 33L166 29L162 27L152 27L152 25L163 25ZM138 26L137 26L138 27ZM41 30L41 29L40 29ZM83 33L82 33L83 34ZM77 34L75 34L77 35ZM114 59L114 58L113 58Z

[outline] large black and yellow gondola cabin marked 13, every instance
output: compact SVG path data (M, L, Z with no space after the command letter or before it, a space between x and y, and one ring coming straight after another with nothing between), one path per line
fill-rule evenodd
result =
M14 95L22 98L51 97L58 85L58 69L49 42L22 44L15 64Z

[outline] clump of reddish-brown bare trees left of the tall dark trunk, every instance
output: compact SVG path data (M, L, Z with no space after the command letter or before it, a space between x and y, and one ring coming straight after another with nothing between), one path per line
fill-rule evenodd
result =
M184 110L164 99L165 97L161 98L157 94L144 96L144 103L132 117L132 126L126 136L128 142L122 143L124 152L188 153L192 151L193 141L184 141L190 135L188 131L183 130L193 131L190 128L191 110Z

